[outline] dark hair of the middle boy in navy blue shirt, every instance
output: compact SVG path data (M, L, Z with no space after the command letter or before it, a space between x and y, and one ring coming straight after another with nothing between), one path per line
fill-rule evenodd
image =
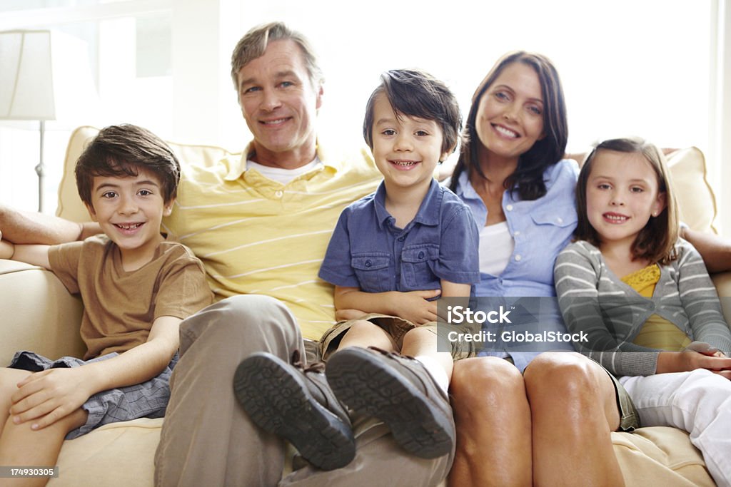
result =
M385 93L396 116L434 120L444 136L442 152L455 150L462 129L457 99L447 85L417 69L391 69L381 74L381 84L371 93L363 120L363 138L368 147L373 148L373 111L380 93Z

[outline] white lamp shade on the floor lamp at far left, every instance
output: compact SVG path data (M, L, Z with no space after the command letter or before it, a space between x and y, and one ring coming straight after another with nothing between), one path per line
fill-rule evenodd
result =
M0 118L53 120L50 31L0 32Z

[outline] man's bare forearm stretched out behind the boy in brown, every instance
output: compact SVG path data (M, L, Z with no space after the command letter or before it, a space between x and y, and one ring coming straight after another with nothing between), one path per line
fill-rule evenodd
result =
M76 223L52 215L22 212L0 204L2 238L17 244L55 245L102 233L98 223Z

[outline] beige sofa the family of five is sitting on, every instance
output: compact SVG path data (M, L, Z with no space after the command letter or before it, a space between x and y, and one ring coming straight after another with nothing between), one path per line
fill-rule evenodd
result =
M87 221L78 199L73 165L96 129L81 127L69 141L64 178L59 188L58 215ZM171 144L181 164L215 164L227 154L219 147ZM715 200L705 180L705 161L695 148L670 156L681 201L683 221L693 229L713 231ZM716 275L721 296L731 296L731 275ZM78 334L81 304L50 272L0 260L0 363L16 350L34 350L56 358L80 356ZM731 318L731 310L727 310ZM140 419L97 429L64 443L58 459L60 475L50 487L151 486L154 450L162 419ZM713 486L702 457L688 435L671 428L642 428L635 434L613 433L614 450L627 484L651 486ZM215 455L216 452L211 452Z

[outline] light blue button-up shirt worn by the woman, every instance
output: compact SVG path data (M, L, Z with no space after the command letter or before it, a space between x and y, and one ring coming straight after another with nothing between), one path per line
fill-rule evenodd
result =
M553 287L553 264L558 253L571 242L576 228L578 173L576 162L564 159L545 170L547 192L541 198L522 201L516 199L517 193L503 193L502 209L515 241L515 250L500 275L480 272L476 296L556 296L556 288ZM484 226L488 209L477 191L474 191L467 172L459 176L455 193L467 204L478 225ZM548 302L550 300L546 303ZM547 318L542 323L542 329L566 331L557 306L556 310L542 310L541 315L542 318ZM556 345L552 344L552 348L559 348L560 345ZM538 353L510 355L515 366L523 370Z

